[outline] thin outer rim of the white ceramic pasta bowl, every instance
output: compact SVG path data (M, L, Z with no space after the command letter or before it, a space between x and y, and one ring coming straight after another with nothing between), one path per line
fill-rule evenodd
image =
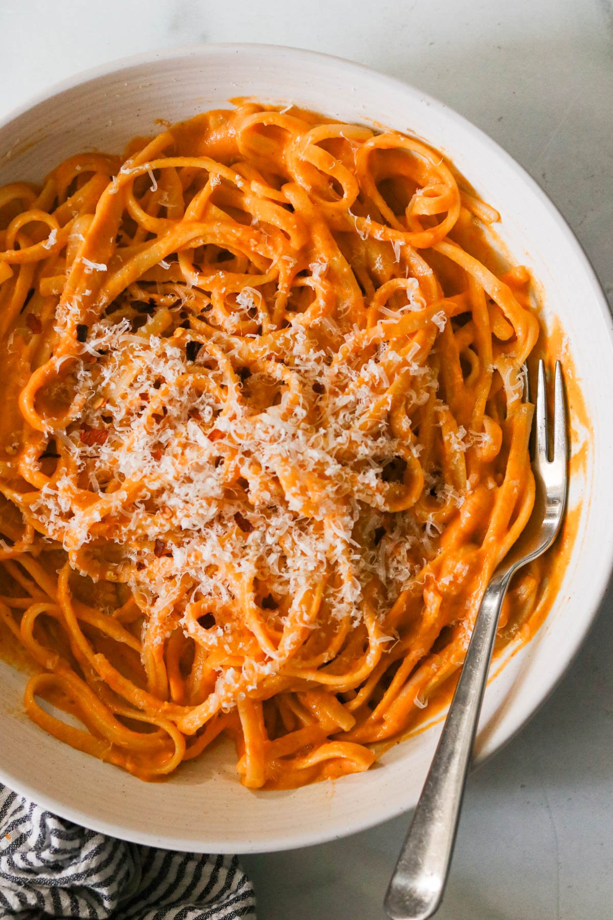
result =
M413 84L406 83L398 77L384 74L367 64L351 61L347 58L343 58L335 54L316 52L310 49L296 48L289 45L268 44L266 42L210 42L176 45L171 48L163 49L152 49L145 52L139 52L137 54L125 55L105 63L96 64L94 67L86 68L85 70L80 70L73 75L64 77L62 80L51 84L51 86L28 98L25 102L22 102L13 109L8 110L4 115L1 115L0 130L8 127L12 121L15 121L20 116L26 114L30 109L34 109L37 106L44 104L45 102L49 102L52 98L59 96L66 91L77 89L79 86L83 86L87 83L106 76L119 74L124 70L131 69L132 67L143 64L152 64L156 61L162 62L171 61L174 59L185 59L188 57L207 57L209 55L213 56L215 54L227 52L240 53L249 51L267 52L267 55L277 55L278 57L283 57L289 54L294 58L301 58L304 61L310 61L313 64L316 64L318 61L327 61L328 63L335 64L346 74L353 72L356 75L360 75L362 78L368 79L369 81L376 80L380 81L381 84L394 86L398 91L402 91L407 96L413 97L416 103L420 105L426 104L427 106L432 106L433 109L443 111L449 121L455 122L460 127L460 129L471 132L471 134L479 142L481 142L484 147L487 148L488 153L494 155L494 158L502 160L505 165L509 167L517 175L517 177L524 182L530 196L536 198L539 201L540 205L550 213L551 218L560 227L562 234L566 238L567 244L573 249L573 253L578 260L578 263L580 264L585 278L585 285L589 286L591 289L594 300L598 305L600 318L602 319L604 326L607 329L608 347L611 355L613 356L613 307L608 305L607 296L604 293L602 285L598 280L596 270L594 269L589 257L585 252L585 248L579 242L577 236L575 236L572 227L560 212L558 207L553 203L553 201L551 201L546 192L541 189L537 180L528 173L528 170L525 167L521 166L521 164L517 162L515 157L507 153L504 147L494 141L494 139L489 134L484 132L477 125L473 124L473 122L471 122L465 116L460 115L460 113L455 109L449 107L447 103L431 96L429 93L423 91L417 86L414 86ZM545 702L550 698L551 693L557 684L561 682L564 674L568 672L569 667L571 666L573 660L576 658L579 650L581 650L583 647L585 639L587 638L591 628L594 625L594 622L596 621L596 616L600 612L609 584L613 583L613 533L607 536L607 556L609 557L607 567L603 567L599 572L596 571L593 573L593 580L596 581L594 590L595 602L590 611L586 613L582 618L581 634L576 638L573 647L565 653L563 660L560 659L558 661L558 666L556 667L555 671L547 678L546 681L543 682L543 685L539 690L538 701L534 703L529 709L526 709L523 713L518 715L517 719L514 721L514 724L510 727L509 730L507 730L505 737L501 741L497 742L492 750L488 751L487 753L478 753L476 755L473 761L473 767L482 765L486 760L492 757L494 753L498 753L503 747L505 747L505 745L516 736L517 732L521 730L524 725L526 725L528 720L531 719L545 704ZM551 616L551 613L548 615L548 618L549 616ZM143 845L164 846L166 849L194 849L193 840L182 841L178 836L160 838L153 833L148 833L146 831L136 831L132 828L118 825L113 822L108 822L101 818L91 817L89 814L80 811L78 808L74 808L70 805L64 805L62 802L56 801L56 799L54 799L52 796L40 794L37 792L36 788L33 788L29 783L19 782L18 777L13 776L12 774L8 774L2 765L0 765L0 782L5 783L9 788L15 790L18 794L21 794L28 799L37 802L40 804L40 806L48 809L49 811L52 811L60 817L88 827L96 832L109 834L116 837L120 835L120 839L123 840L128 840ZM406 811L410 811L413 807L414 806L412 804L407 804L406 801L393 803L389 809L384 811L384 813L372 815L368 819L361 818L358 820L354 819L352 821L350 818L347 818L346 826L344 826L341 831L336 830L333 833L314 828L311 831L301 829L294 831L291 834L284 834L281 849L289 850L301 846L317 845L326 841L341 839L350 834L357 834L360 831L368 830L369 828L374 827L381 822L389 821L392 818L398 817L400 814L403 814ZM240 847L237 852L264 853L275 852L279 849L278 844L276 844L274 841L272 841L270 845L264 845L262 843L248 845L247 841L245 841L245 844L247 845ZM207 841L207 847L210 847L211 852L213 849L220 852L228 852L227 843L224 844L222 840L209 840Z

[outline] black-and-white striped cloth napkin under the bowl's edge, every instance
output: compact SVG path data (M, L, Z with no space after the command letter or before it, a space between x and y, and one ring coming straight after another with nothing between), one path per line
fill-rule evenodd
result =
M0 785L0 918L255 920L237 857L128 844Z

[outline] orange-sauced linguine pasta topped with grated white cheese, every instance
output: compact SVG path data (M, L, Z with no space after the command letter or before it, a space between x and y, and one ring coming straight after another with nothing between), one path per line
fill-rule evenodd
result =
M0 218L28 716L145 779L221 734L249 788L367 769L533 506L539 320L497 213L414 138L244 103L6 186Z

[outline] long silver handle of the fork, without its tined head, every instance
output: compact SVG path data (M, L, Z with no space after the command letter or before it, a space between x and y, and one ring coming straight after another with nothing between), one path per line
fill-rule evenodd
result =
M426 920L443 897L498 617L511 574L512 570L494 575L483 594L437 751L385 896L385 910L392 920Z

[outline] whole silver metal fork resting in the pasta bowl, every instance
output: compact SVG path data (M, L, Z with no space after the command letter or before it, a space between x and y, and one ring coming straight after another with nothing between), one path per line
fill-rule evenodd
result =
M535 428L532 469L537 497L534 511L517 549L498 566L483 594L437 751L385 896L385 911L392 920L426 920L440 905L506 589L517 569L549 549L562 523L567 491L567 443L560 362L555 365L551 460L542 361L539 362Z

